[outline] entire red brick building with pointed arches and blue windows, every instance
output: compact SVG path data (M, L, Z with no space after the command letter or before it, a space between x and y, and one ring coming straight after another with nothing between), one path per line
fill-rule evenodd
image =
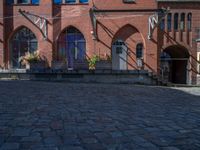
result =
M0 65L23 68L20 57L36 50L67 68L110 56L113 70L195 84L199 15L199 0L1 0Z

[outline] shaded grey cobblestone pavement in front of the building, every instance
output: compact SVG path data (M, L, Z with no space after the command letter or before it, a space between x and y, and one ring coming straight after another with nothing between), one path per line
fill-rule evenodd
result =
M200 149L200 88L0 82L0 150L140 149Z

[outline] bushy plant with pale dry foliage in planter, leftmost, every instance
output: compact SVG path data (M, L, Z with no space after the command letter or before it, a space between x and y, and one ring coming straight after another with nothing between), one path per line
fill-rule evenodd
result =
M21 58L22 65L26 66L27 70L41 71L45 69L45 61L41 58L39 51L34 53L27 52L25 56Z

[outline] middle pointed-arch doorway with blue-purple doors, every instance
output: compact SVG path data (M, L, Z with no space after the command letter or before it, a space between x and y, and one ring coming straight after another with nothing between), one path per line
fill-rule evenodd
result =
M74 61L86 58L86 41L83 34L75 27L66 28L58 39L57 60L67 61L68 68L73 68Z

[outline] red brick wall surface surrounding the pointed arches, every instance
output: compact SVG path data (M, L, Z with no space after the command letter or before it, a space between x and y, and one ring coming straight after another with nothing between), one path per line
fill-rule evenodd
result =
M194 42L195 28L199 27L198 14L200 14L200 3L173 3L162 2L157 3L155 0L138 0L135 3L126 4L122 0L94 0L89 4L77 5L53 5L52 0L41 0L38 6L3 5L0 1L1 17L17 16L6 19L4 27L0 26L0 38L4 37L5 62L9 66L10 49L9 40L12 35L22 26L26 26L36 35L38 39L38 49L51 65L54 54L57 52L57 40L62 31L69 26L74 26L80 30L86 39L87 55L94 54L105 55L111 54L112 43L116 39L123 39L130 49L129 69L137 69L135 49L137 43L144 45L144 63L145 68L154 72L159 72L159 58L162 49L167 46L180 44L190 51L193 57L196 57L197 44ZM96 13L97 18L97 35L98 40L93 40L91 32L93 31L91 16L89 10L96 6L97 10L110 10L107 12ZM171 13L189 13L193 15L192 32L175 32L171 31L167 35L163 35L160 30L155 30L152 40L148 40L148 18L155 13L157 8L170 7ZM3 9L4 8L4 9ZM48 39L44 40L42 33L26 18L20 15L18 10L29 11L33 14L44 15L48 19ZM3 13L3 10L4 13ZM113 11L119 10L119 12ZM132 11L124 11L132 10ZM52 19L54 17L54 19ZM56 18L55 18L56 17ZM2 19L0 23L2 24ZM173 24L173 23L172 23ZM135 30L135 31L134 31ZM169 39L170 37L170 39ZM0 41L0 49L3 43ZM2 53L0 51L0 63L2 64ZM195 62L192 61L195 65ZM194 76L192 74L192 76Z

